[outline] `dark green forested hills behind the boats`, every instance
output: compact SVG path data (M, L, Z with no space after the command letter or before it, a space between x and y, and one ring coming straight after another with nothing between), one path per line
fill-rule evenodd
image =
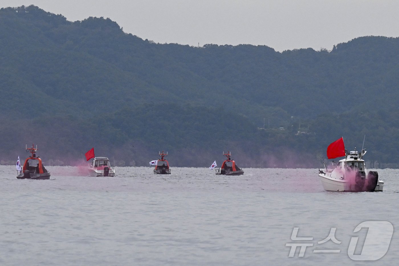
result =
M361 149L366 135L365 159L399 166L399 38L190 47L36 6L2 8L0 26L0 163L35 142L48 164L94 146L121 166L165 150L202 167L229 149L242 167L319 167L329 143Z

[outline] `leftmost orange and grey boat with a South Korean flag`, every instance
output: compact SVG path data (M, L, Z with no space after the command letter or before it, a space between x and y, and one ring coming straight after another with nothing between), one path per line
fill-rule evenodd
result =
M32 155L26 158L22 168L17 170L17 179L50 179L50 172L45 169L40 156L36 155L38 145L36 145L36 148L34 144L32 144L32 148L28 148L28 145L26 145L25 150Z

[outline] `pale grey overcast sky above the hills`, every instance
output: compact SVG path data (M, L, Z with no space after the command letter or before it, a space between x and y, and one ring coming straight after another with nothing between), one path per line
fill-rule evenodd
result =
M277 51L332 49L359 36L399 36L397 0L0 0L67 20L110 18L159 43L253 44Z

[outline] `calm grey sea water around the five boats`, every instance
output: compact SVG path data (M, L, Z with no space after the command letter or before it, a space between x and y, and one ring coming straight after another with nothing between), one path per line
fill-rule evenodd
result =
M378 193L326 192L317 169L244 169L238 177L207 168L154 175L117 167L117 177L48 169L50 180L17 180L14 166L0 166L0 265L363 265L347 250L367 220L394 226L387 254L368 264L399 260L397 169L377 170L385 181ZM313 240L292 241L294 227ZM332 227L341 244L318 244ZM294 242L314 245L289 257Z

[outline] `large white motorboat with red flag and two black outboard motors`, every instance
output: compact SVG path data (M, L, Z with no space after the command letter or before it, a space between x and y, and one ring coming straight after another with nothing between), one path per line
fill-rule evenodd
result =
M362 149L359 153L356 148L348 153L344 146L344 138L331 143L327 148L328 159L345 158L338 163L333 163L331 168L324 164L324 169L319 169L319 177L324 190L344 192L382 191L384 181L378 179L378 173L376 171L367 173L366 164L363 160L365 154L365 149Z

